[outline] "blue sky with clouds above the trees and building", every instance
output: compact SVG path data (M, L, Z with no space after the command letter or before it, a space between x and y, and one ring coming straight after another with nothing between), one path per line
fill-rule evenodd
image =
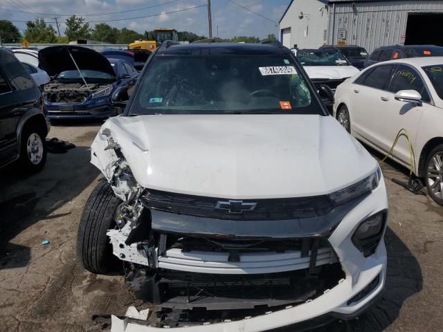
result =
M272 21L279 21L290 0L233 1L267 19L248 12L230 0L211 0L214 37L217 36L217 26L219 37L222 38L234 35L263 38L269 33L278 35L278 27ZM13 21L21 33L26 28L25 22L36 17L54 21L53 17L57 16L63 22L69 15L84 15L91 26L96 21L105 21L116 28L127 27L140 33L158 27L171 27L208 35L208 12L206 6L202 6L206 3L207 0L1 0L0 19ZM187 10L198 6L202 7ZM174 12L177 10L182 11ZM61 24L61 33L64 33L64 28L64 24Z

